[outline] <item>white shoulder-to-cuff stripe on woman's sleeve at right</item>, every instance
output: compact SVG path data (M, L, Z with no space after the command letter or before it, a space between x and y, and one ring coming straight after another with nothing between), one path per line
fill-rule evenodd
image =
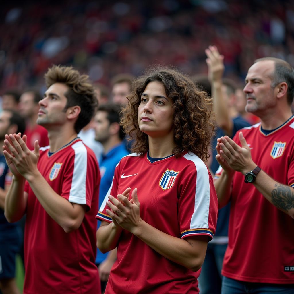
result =
M209 228L210 185L207 166L195 154L190 155L187 153L183 157L193 161L197 171L194 213L191 218L190 228Z

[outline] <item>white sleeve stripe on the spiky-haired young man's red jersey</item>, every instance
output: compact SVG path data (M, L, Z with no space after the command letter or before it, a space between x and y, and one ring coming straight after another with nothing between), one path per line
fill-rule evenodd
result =
M74 143L71 148L75 157L69 202L86 204L87 149L81 141Z

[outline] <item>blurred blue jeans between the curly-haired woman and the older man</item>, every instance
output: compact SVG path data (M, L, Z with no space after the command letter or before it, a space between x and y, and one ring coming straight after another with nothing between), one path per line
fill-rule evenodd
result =
M220 294L222 275L220 271L223 266L223 256L227 244L208 243L205 260L198 278L199 293L201 294Z

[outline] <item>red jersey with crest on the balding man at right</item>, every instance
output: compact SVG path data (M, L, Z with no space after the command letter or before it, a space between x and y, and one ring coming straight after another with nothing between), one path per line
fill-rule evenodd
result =
M240 130L252 160L275 181L294 187L294 117L265 135L260 123ZM233 140L241 146L239 132ZM221 173L221 168L216 176ZM258 178L258 176L257 176ZM236 172L231 194L225 277L246 282L294 283L294 220ZM292 205L292 204L291 204Z

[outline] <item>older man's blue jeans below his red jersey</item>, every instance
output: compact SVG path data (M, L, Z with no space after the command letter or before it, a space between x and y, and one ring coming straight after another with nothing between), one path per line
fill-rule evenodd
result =
M251 283L223 277L221 294L293 294L294 284Z

